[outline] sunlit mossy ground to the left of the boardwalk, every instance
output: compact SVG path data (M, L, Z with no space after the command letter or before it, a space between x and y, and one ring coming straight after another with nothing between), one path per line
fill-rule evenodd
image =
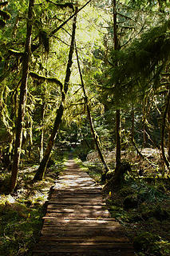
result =
M56 160L57 159L57 160ZM50 187L64 168L63 156L55 158L42 182L32 182L38 166L19 170L16 192L7 194L6 185L10 174L1 170L0 194L0 255L30 256L42 229L45 202Z

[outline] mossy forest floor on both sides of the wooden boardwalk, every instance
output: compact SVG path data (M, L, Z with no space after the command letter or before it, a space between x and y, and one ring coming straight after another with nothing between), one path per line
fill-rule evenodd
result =
M137 256L170 255L170 197L169 178L161 178L164 165L159 152L145 150L147 158L123 152L122 158L132 165L125 175L120 190L110 188L105 194L113 218L125 227L128 238L133 242ZM149 153L150 152L150 153ZM114 168L114 151L105 157ZM101 181L102 166L97 153L88 155L87 160L77 162L97 182ZM49 191L59 173L65 168L65 158L55 157L45 180L32 183L38 166L30 164L19 172L18 190L6 194L6 182L10 174L0 168L0 255L30 256L42 229L42 217ZM161 169L162 168L162 169Z

